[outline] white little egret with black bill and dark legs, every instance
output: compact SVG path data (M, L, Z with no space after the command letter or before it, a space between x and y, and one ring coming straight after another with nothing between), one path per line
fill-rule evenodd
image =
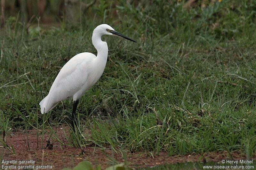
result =
M39 103L42 114L52 110L60 101L72 97L74 102L72 127L74 129L78 101L100 79L107 63L108 44L101 40L102 35L115 35L133 41L107 24L97 26L92 33L92 44L97 50L97 56L88 52L79 53L62 67L48 95Z

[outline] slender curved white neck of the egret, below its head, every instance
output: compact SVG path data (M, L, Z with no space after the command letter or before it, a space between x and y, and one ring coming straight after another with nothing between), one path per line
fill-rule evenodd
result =
M108 44L105 41L101 40L102 34L93 33L92 34L92 44L97 50L97 60L101 62L107 62L108 58ZM106 64L106 63L105 63Z

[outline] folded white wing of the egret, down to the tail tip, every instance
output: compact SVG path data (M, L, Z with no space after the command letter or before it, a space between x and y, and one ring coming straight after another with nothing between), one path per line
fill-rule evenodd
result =
M81 88L86 88L84 84L88 77L88 67L95 57L92 53L80 53L62 67L49 94L39 103L42 114L49 112L61 100L72 97Z

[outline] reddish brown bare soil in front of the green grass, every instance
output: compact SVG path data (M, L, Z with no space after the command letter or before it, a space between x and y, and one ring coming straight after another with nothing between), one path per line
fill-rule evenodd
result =
M62 133L63 130L60 128L57 130L57 135L59 136L62 142L64 141L67 144L65 135ZM62 137L60 137L60 134ZM49 134L44 135L44 146L47 143ZM51 139L53 140L53 139ZM38 148L37 148L37 139L36 139L36 130L28 130L28 140L26 132L15 132L6 137L6 143L12 145L16 154L11 154L11 152L5 148L0 148L0 156L3 155L5 160L35 160L36 165L51 165L52 169L62 169L64 167L74 167L80 161L88 160L93 166L101 165L101 168L106 168L111 166L111 158L114 158L117 162L124 162L121 154L117 154L110 149L105 149L102 152L102 149L98 147L86 147L84 149L84 154L82 154L81 149L76 149L72 146L61 145L57 141L52 141L52 149L41 149L41 138L38 139ZM28 150L29 144L29 150ZM232 153L233 158L236 159L245 159L244 154L239 152ZM157 155L154 155L154 158L151 154L146 152L126 152L127 163L131 167L150 167L158 166L164 164L175 164L175 163L184 163L184 162L220 162L222 159L230 158L228 152L211 152L205 153L204 156L200 154L191 154L191 155L176 155L168 156L166 152L160 152ZM256 157L254 156L254 158ZM31 164L30 164L31 165ZM33 165L33 164L32 164Z

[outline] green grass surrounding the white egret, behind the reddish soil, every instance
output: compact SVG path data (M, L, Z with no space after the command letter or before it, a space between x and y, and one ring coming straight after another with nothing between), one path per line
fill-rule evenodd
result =
M103 37L109 48L107 66L78 105L80 130L89 129L90 136L75 136L70 144L96 144L116 152L254 155L255 1L223 0L190 10L177 1L108 5L105 22L137 43ZM1 131L70 123L71 100L44 116L38 103L72 56L96 54L91 35L102 23L100 11L83 18L77 29L62 24L40 33L36 27L27 32L15 18L8 20L0 37Z

